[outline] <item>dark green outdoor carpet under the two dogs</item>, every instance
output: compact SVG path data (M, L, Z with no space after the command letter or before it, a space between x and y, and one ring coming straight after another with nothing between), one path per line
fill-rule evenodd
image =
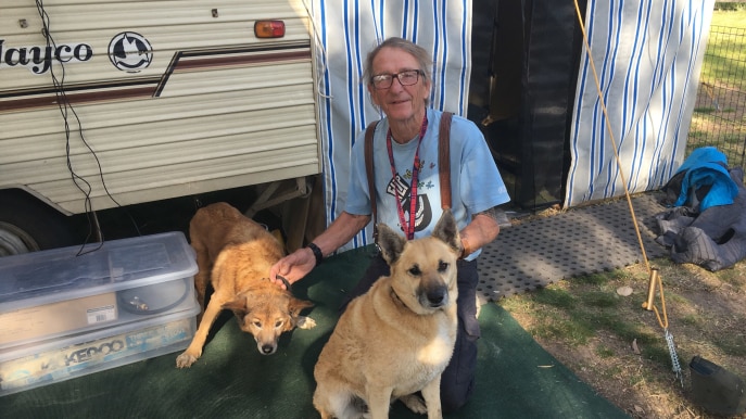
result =
M371 247L325 261L293 292L316 306L312 330L295 330L263 356L229 313L189 369L178 353L0 397L2 418L317 418L313 368L337 307L367 267ZM542 350L494 303L482 307L477 388L446 418L625 418ZM395 356L395 354L392 354ZM400 403L392 418L421 418Z

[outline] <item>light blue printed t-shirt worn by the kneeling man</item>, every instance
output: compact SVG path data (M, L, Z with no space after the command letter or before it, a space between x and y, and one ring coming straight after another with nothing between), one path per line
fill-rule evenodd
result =
M417 182L417 211L415 238L430 236L443 213L441 208L438 174L438 131L442 112L428 109L428 129L419 149L420 169ZM409 191L417 151L417 139L400 144L392 141L396 176L391 173L385 137L389 122L383 118L374 134L374 168L378 223L402 229L396 195L409 223ZM370 215L370 193L365 170L365 131L357 136L352 149L350 188L345 211L353 215ZM479 128L470 120L453 116L451 123L451 203L452 212L463 229L471 221L472 214L510 201L503 178ZM404 231L402 229L402 234ZM473 259L475 252L468 259Z

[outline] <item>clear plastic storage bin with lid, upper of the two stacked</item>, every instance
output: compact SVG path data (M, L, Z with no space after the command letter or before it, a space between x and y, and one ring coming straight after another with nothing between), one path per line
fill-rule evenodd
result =
M197 261L184 233L99 246L0 257L0 351L197 306Z

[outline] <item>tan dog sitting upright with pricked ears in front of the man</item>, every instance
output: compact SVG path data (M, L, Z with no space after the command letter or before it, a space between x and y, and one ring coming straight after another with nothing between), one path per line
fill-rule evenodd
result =
M446 211L431 237L413 241L379 225L378 244L391 275L340 317L314 370L314 406L324 419L382 419L400 398L442 418L441 373L456 343L456 221Z

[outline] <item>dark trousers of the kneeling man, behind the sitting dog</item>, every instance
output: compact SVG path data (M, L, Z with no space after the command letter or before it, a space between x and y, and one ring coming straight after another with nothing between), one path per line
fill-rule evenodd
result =
M363 278L342 301L340 313L358 295L366 293L381 276L389 276L389 265L377 255ZM477 373L477 261L458 261L458 333L451 363L441 376L441 405L443 411L454 411L464 406L473 391Z

